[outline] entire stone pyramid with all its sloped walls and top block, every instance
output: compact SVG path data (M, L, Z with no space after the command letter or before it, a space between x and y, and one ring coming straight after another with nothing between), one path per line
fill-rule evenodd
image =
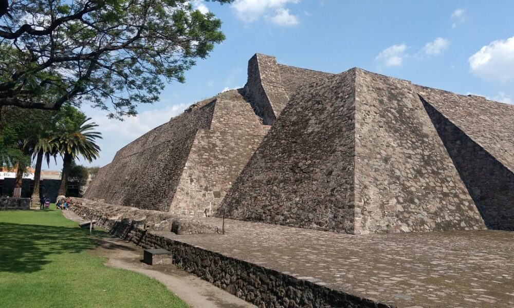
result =
M85 198L352 234L514 230L513 171L512 105L255 54L243 89L122 148Z

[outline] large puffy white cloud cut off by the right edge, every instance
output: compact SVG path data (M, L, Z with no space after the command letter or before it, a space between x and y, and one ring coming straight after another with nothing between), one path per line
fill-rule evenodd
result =
M471 71L487 81L514 81L514 36L482 47L468 59Z

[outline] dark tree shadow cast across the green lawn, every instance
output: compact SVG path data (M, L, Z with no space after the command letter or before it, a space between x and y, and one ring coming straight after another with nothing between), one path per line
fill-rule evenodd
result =
M31 273L52 262L53 254L80 253L96 246L89 230L0 223L0 272ZM105 236L94 231L97 237Z

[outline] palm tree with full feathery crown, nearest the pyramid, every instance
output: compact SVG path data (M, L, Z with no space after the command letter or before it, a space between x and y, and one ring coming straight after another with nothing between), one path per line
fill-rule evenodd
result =
M88 162L92 162L99 156L100 147L95 143L95 139L102 139L102 136L100 132L94 130L95 127L98 126L97 124L94 122L86 124L89 120L91 120L91 118L86 118L85 114L78 114L76 121L71 122L69 126L65 127L63 132L54 139L63 157L63 172L59 195L66 194L69 168L72 160L80 155Z

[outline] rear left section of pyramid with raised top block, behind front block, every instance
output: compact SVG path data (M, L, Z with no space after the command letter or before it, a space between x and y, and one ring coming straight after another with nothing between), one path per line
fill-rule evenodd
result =
M84 197L175 214L215 210L267 133L264 124L286 105L287 93L327 75L255 54L244 90L193 105L122 148Z

